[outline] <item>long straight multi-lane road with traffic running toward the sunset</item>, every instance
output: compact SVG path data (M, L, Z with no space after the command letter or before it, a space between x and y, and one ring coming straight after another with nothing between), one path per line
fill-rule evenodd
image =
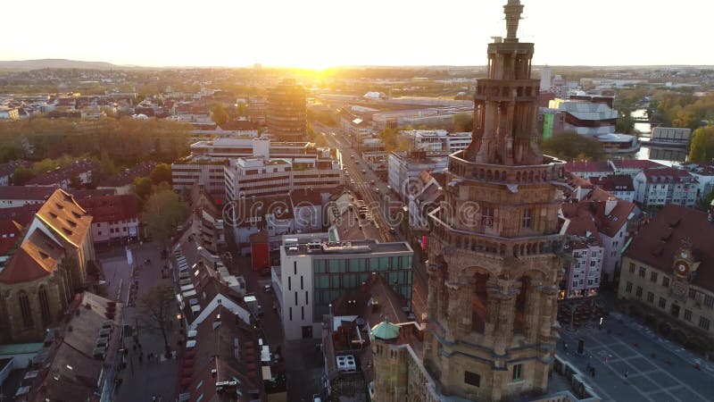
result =
M363 201L369 206L369 212L378 226L381 241L406 241L398 231L399 225L389 223L390 221L385 216L389 211L389 205L386 203L390 201L390 198L387 196L391 196L390 188L386 183L369 169L368 164L361 160L360 154L350 147L348 141L339 134L338 129L325 126L317 121L312 124L315 131L325 138L330 147L336 147L343 154L343 163L347 171L350 172L350 179L354 180L354 187L359 189ZM371 184L372 180L374 185ZM395 229L390 230L393 227ZM418 254L415 253L412 259L412 272L416 272L416 274L411 275L411 310L421 322L423 314L427 311L428 284L424 264L417 260Z

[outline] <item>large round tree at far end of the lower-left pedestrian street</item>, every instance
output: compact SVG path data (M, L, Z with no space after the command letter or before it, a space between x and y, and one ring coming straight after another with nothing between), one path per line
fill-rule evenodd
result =
M168 183L162 182L146 200L141 221L152 235L164 241L170 238L180 222L186 220L188 213L188 204L179 200L179 195Z

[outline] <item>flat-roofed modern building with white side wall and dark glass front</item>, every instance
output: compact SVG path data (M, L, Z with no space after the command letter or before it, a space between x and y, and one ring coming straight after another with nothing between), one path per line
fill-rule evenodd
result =
M321 335L322 316L331 303L378 272L411 306L411 258L406 242L339 241L336 231L283 236L278 301L285 339ZM277 268L274 268L277 269Z

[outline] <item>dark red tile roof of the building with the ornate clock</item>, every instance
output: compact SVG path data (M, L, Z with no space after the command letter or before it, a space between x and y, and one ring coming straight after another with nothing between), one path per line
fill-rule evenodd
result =
M692 241L694 260L700 265L692 283L714 291L714 224L707 214L680 205L667 205L635 236L625 255L672 274L683 239Z

